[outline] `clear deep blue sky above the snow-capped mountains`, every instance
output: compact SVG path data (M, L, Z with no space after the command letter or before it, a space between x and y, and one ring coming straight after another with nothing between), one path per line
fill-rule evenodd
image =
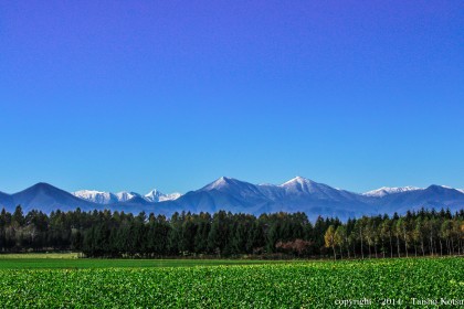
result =
M0 191L464 188L464 2L10 1Z

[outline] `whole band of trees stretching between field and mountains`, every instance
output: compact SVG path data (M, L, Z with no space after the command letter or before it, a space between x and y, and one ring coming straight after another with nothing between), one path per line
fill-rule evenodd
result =
M396 257L464 253L464 210L337 217L305 213L254 216L219 211L137 215L108 210L54 211L21 206L0 213L0 251L75 251L87 257Z

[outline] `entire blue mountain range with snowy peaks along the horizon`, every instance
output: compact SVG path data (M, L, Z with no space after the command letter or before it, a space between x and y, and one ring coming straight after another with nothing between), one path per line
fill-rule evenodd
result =
M283 184L252 184L222 177L203 188L164 194L157 190L141 195L136 192L102 192L82 190L66 192L48 183L38 183L24 191L0 192L0 207L12 211L21 205L50 213L54 210L83 211L109 209L171 215L175 212L217 212L226 210L260 215L271 212L305 212L309 217L338 216L341 220L361 215L404 213L408 210L442 209L458 211L464 207L464 190L432 184L428 188L380 188L366 193L354 193L327 184L296 177Z

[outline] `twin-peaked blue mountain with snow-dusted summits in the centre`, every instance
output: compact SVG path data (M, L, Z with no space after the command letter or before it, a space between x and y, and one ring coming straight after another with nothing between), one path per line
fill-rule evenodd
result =
M222 177L179 198L170 209L191 212L230 210L244 213L305 212L310 216L349 217L373 213L363 198L297 177L281 185L252 184ZM158 209L169 209L160 203Z

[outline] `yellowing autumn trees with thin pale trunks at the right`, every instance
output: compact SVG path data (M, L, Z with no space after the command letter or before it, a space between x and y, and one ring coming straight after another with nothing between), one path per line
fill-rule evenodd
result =
M392 219L362 216L330 225L324 241L333 249L334 258L461 255L464 254L464 221L462 211L455 215L450 211L421 210Z

